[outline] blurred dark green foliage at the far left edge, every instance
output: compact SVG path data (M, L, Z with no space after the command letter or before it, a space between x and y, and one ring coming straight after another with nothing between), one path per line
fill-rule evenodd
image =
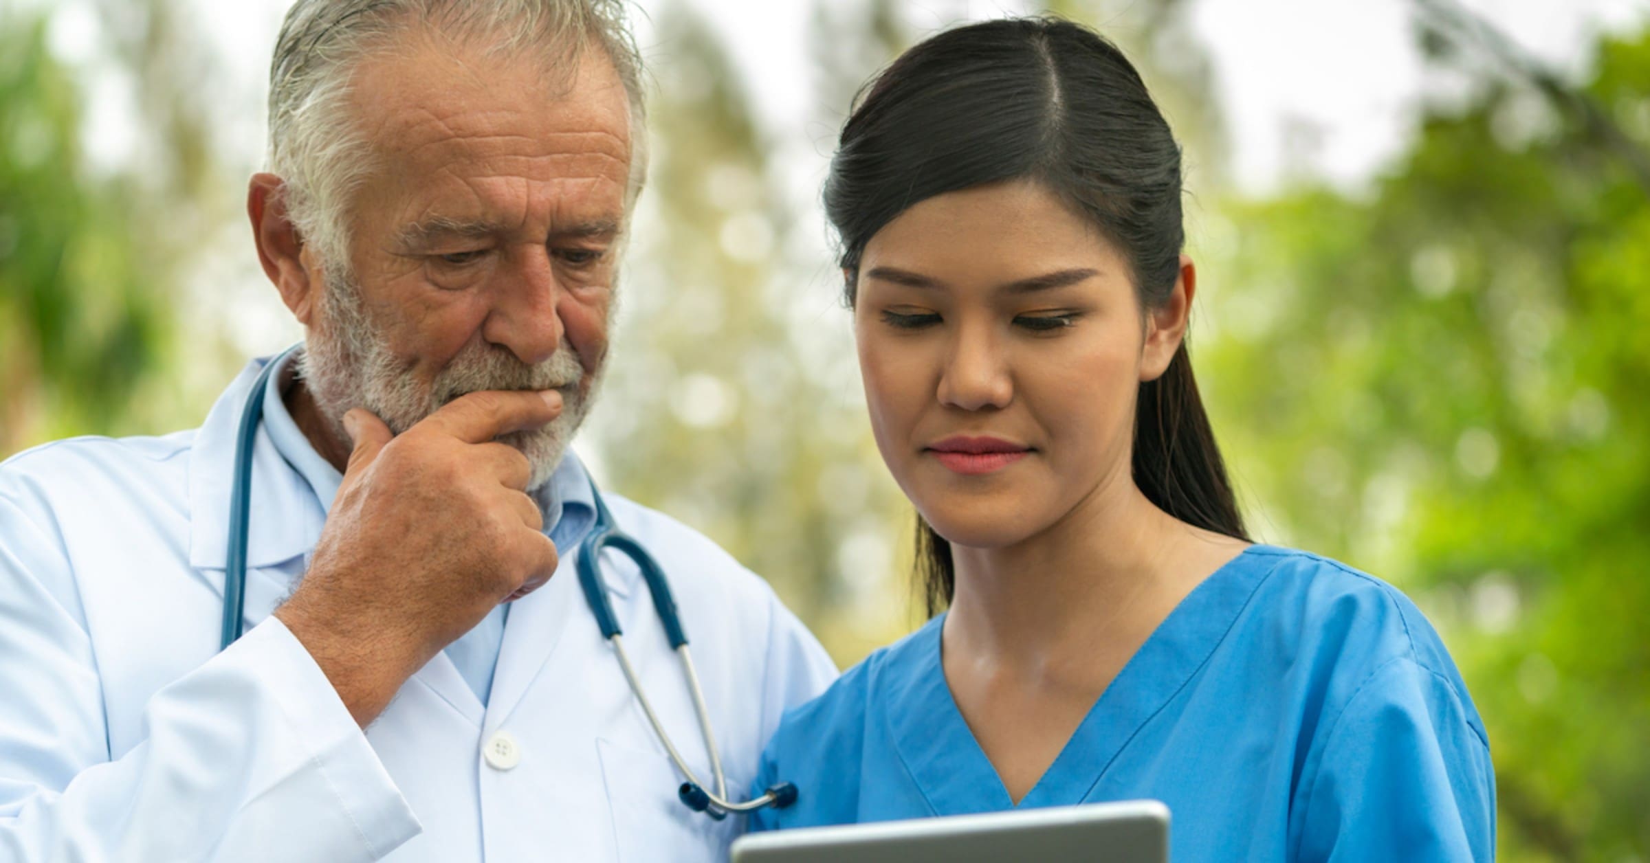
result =
M0 452L119 427L170 340L132 196L81 163L46 20L0 12Z

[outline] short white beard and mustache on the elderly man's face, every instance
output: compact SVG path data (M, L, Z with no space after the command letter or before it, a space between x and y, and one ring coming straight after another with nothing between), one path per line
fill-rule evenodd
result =
M526 455L533 469L528 492L544 485L561 464L568 444L573 442L594 401L602 368L604 363L597 365L586 383L584 366L566 337L556 347L556 353L531 366L516 360L507 348L480 343L459 351L431 386L424 388L412 378L406 363L389 351L388 340L366 315L360 285L346 272L327 279L315 327L310 328L305 348L299 355L299 376L315 398L322 417L345 442L350 437L343 431L343 414L351 408L378 414L393 434L401 434L465 393L561 391L563 408L554 421L540 429L498 437L500 442Z

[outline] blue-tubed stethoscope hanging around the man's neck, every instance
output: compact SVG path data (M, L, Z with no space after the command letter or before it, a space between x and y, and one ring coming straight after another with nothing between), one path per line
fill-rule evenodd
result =
M264 417L264 389L269 386L269 376L276 366L299 350L299 347L287 348L264 366L262 373L252 383L251 394L246 398L246 408L241 411L241 426L236 431L234 444L234 483L229 490L229 554L224 566L223 639L219 650L241 637L241 617L246 612L246 540L251 533L248 510L252 500L252 442L257 439L257 424ZM642 713L647 714L648 724L653 726L653 734L658 734L658 743L665 744L665 752L670 754L672 764L686 779L676 789L676 795L681 797L681 802L688 809L705 812L716 820L726 818L729 812L751 812L767 805L784 809L797 802L797 787L790 782L769 785L761 797L742 804L728 799L728 779L723 776L721 754L716 749L714 736L711 736L711 719L705 710L705 693L700 690L700 675L693 670L693 655L688 653L688 635L681 630L681 617L676 615L676 599L670 594L670 582L665 581L665 573L653 561L653 556L642 548L642 543L614 525L612 513L607 512L607 505L602 502L601 492L596 490L594 480L591 480L591 497L596 500L596 525L591 526L589 535L579 543L579 587L584 589L584 601L591 606L596 625L601 627L602 637L607 639L614 648L614 655L619 657L619 668L624 670L624 678L630 685L630 691L635 695L637 703L642 705ZM705 734L705 751L711 756L716 794L705 790L700 779L681 761L681 754L670 743L670 734L665 733L658 714L653 713L653 705L648 703L647 695L642 691L642 683L635 678L635 668L630 667L630 658L624 652L624 634L619 629L619 617L607 601L601 574L601 554L609 548L630 558L642 571L642 579L647 581L647 589L653 596L653 609L658 612L658 620L665 625L670 647L681 657L681 670L688 677L688 690L693 693L693 711L698 714L700 731Z

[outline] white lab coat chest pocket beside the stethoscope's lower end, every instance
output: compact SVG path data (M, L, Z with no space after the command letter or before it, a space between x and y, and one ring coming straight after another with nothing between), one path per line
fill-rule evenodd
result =
M723 863L734 837L744 832L744 815L711 820L693 812L676 797L681 774L670 757L653 749L635 749L597 739L607 810L612 812L614 842L624 863L680 860ZM696 767L695 767L696 769ZM728 792L744 799L746 785L728 776Z

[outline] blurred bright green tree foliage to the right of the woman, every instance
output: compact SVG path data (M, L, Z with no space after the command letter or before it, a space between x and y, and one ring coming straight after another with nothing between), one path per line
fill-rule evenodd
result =
M1650 33L1582 94L1650 144ZM1233 201L1198 365L1261 533L1414 592L1495 756L1502 858L1650 850L1650 190L1490 81L1366 195Z

